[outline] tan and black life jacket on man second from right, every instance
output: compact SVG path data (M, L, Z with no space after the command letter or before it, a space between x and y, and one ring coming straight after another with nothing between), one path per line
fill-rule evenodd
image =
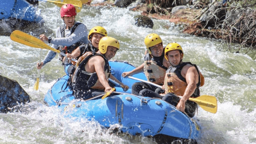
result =
M163 52L165 50L163 49ZM147 52L144 56L144 73L148 81L163 85L167 67L163 66L164 53L161 56L151 58Z

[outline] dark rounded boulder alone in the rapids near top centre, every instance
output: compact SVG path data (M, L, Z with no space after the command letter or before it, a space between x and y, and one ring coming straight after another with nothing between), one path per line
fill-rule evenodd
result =
M138 27L153 28L154 26L153 21L147 16L138 15L135 16L134 19L135 25L137 25Z

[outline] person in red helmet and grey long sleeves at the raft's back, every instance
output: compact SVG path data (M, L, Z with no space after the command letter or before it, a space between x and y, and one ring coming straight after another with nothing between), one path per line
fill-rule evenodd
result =
M51 43L52 48L60 50L63 53L72 53L78 46L88 43L88 31L87 27L80 22L75 21L75 16L77 11L75 6L72 4L64 4L60 9L60 16L63 19L64 24L60 25L56 29L56 38L47 38L45 34L40 35L40 40ZM49 51L46 58L39 64L37 63L37 68L41 69L42 66L49 63L57 53ZM63 61L62 55L60 55L60 60Z

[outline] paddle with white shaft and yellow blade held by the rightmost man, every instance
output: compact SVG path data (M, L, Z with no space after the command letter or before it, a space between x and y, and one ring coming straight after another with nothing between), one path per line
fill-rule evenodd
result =
M157 85L155 83L152 83L150 81L141 80L139 78L130 77L130 76L128 76L128 78L131 78L133 80L142 81L144 83L148 83L148 84L156 86L158 88L162 88L162 86ZM181 96L179 96L179 97L181 97ZM188 100L197 103L205 111L208 111L210 113L216 113L217 112L217 99L214 96L211 96L211 95L200 95L199 97L196 97L196 98L188 98Z

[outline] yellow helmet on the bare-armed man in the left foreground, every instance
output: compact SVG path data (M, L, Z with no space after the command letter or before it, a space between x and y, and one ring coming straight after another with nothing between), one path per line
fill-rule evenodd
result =
M120 48L120 44L118 40L115 38L112 38L110 36L104 36L100 41L99 41L99 51L102 54L105 54L107 52L108 46L116 47L118 50Z

